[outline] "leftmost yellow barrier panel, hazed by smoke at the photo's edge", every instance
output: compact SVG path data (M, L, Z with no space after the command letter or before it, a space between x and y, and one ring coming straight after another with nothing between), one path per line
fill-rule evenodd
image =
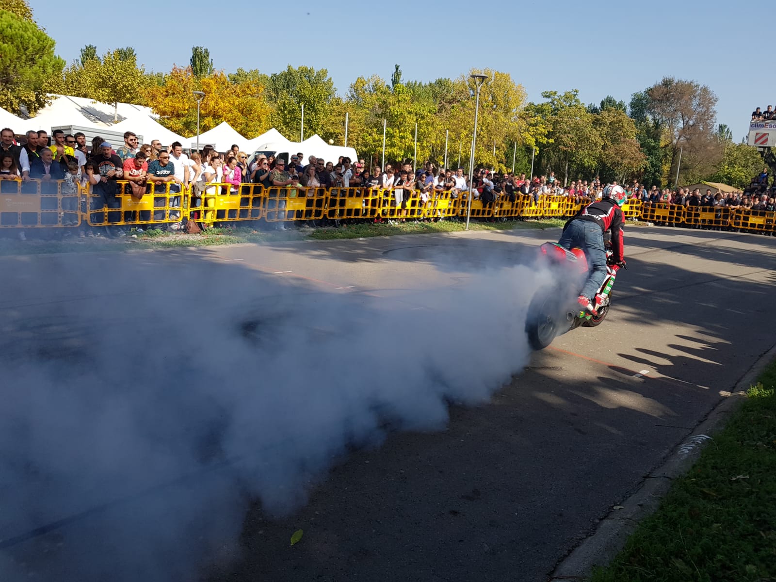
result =
M0 227L78 227L78 184L63 180L0 180Z

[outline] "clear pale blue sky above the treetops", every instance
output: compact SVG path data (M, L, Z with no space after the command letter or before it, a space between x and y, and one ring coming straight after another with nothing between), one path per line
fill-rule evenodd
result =
M129 45L147 70L169 71L189 64L192 46L203 45L227 72L326 68L341 95L359 75L390 80L400 64L405 80L418 81L494 68L510 73L531 101L545 90L577 88L585 103L608 94L629 102L670 75L708 85L719 97L717 122L735 140L747 133L756 106L776 106L771 27L763 21L759 45L747 40L758 25L743 2L138 0L113 3L111 12L112 2L102 0L105 10L95 13L59 0L30 3L68 63L88 43L99 54Z

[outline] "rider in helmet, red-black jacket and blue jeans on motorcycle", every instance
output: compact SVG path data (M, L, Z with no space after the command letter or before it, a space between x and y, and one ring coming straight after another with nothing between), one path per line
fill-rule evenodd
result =
M591 299L606 279L606 249L604 233L611 230L612 262L625 266L625 244L622 241L622 225L625 218L620 206L627 195L622 186L608 185L604 196L597 202L588 204L577 216L563 227L563 235L558 244L566 249L581 248L590 264L591 272L582 288L577 302L585 310L595 314Z

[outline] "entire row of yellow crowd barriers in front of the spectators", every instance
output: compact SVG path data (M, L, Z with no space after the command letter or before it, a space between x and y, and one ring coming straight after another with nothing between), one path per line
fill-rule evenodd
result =
M138 189L136 189L138 190ZM497 195L485 203L472 200L474 219L573 217L590 199L527 194ZM0 180L0 227L144 226L179 223L184 218L206 225L265 220L269 223L307 220L438 220L466 217L469 192L420 192L410 189L271 187L227 183L204 189L182 188L175 182L152 184L134 192L130 182L78 185L63 181ZM734 228L776 232L776 212L728 207L643 203L622 206L625 218L702 228Z

